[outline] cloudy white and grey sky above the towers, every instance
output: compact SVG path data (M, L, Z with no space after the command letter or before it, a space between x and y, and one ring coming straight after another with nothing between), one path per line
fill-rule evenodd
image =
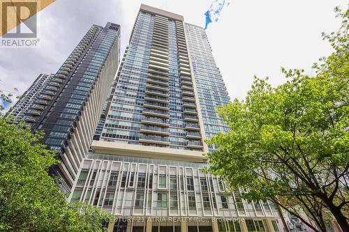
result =
M281 67L304 68L332 52L321 38L339 28L343 0L57 0L38 13L39 47L0 48L0 89L20 95L40 73L55 73L91 24L121 25L121 55L144 3L206 28L231 99L244 99L253 76L285 82ZM17 91L15 91L17 88Z

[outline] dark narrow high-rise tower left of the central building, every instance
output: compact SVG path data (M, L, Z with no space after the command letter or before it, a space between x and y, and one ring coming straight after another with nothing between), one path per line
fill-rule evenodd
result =
M60 164L50 173L70 191L88 153L117 72L120 26L93 25L54 75L40 75L10 114L31 129L43 130L43 142L57 151Z

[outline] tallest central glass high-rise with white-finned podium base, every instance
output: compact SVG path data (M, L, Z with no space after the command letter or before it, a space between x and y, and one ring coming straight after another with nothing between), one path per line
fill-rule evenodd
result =
M275 206L202 171L228 101L202 27L142 5L69 200L116 215L110 231L282 231Z

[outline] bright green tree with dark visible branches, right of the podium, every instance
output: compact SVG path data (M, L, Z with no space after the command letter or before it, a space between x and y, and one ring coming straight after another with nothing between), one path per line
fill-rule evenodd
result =
M218 109L230 127L208 143L209 171L248 201L267 199L315 231L326 231L327 213L349 231L348 16L336 33L323 34L334 52L315 63L314 77L285 70L288 81L272 87L255 77L245 100ZM318 226L312 226L302 212Z

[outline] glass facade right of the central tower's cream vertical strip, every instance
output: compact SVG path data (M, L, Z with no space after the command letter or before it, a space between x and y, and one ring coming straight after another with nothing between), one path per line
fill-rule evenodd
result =
M230 98L221 72L214 62L211 46L204 29L188 23L185 24L185 28L204 122L205 137L211 139L218 132L228 132L228 127L223 123L221 116L218 116L216 107L228 104ZM212 150L214 150L214 146L209 145L209 151Z

